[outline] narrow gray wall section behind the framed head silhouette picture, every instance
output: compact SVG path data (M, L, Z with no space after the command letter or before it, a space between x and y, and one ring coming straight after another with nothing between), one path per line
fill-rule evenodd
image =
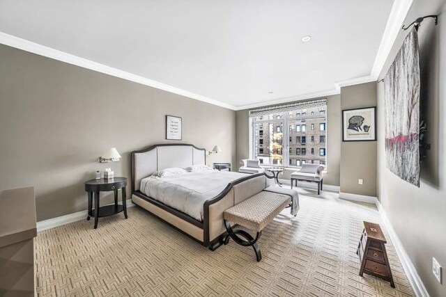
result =
M341 88L342 110L371 106L376 106L376 82ZM341 192L376 197L376 141L342 142L340 177Z

